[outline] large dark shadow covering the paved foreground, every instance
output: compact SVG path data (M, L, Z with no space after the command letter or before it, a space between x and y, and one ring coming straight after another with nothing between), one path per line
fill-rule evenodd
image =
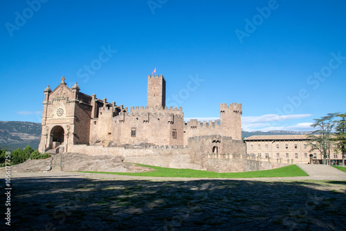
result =
M120 181L117 177L16 178L11 228L343 230L346 225L345 182Z

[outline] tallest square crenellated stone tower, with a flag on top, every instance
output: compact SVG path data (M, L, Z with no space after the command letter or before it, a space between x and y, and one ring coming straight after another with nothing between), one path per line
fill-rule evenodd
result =
M166 80L163 75L148 75L147 107L165 107Z

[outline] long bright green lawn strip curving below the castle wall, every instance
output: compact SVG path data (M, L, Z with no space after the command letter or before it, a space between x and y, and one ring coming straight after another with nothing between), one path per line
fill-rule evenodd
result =
M289 165L278 169L253 171L253 172L228 172L217 173L194 169L170 169L167 167L156 167L150 165L140 165L155 169L152 172L127 173L127 172L87 172L99 174L116 174L127 176L156 176L156 177L186 177L186 178L255 178L255 177L288 177L288 176L309 176L297 165Z

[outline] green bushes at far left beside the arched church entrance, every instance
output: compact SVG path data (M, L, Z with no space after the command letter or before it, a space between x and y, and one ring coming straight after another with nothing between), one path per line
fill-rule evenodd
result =
M6 150L0 150L0 166L4 166L5 162ZM17 165L25 162L28 159L45 159L50 157L51 154L40 154L38 150L33 149L30 145L24 147L24 149L16 149L15 151L11 151L11 165Z

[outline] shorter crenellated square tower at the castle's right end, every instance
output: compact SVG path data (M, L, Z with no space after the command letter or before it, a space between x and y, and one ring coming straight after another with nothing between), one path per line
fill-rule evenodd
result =
M222 136L232 136L233 140L242 140L242 104L220 104L220 123Z

